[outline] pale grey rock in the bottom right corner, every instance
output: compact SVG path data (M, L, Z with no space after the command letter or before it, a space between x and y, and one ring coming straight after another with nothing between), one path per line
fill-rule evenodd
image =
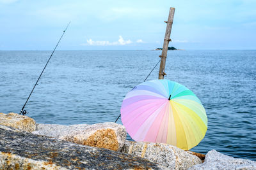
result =
M247 159L235 159L216 150L205 155L203 164L195 165L189 169L256 169L256 162Z

